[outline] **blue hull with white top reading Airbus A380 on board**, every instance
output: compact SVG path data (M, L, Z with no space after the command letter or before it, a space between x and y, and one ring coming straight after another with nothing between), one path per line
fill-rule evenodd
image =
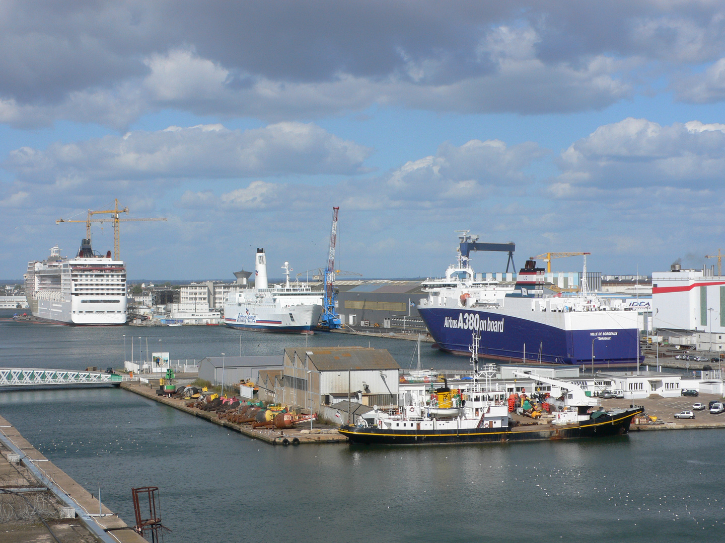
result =
M618 316L617 322L610 311L539 313L529 309L517 315L515 311L422 305L418 313L436 345L450 353L469 355L471 333L479 332L481 358L581 366L592 363L593 350L595 366L637 363L638 332L629 315Z

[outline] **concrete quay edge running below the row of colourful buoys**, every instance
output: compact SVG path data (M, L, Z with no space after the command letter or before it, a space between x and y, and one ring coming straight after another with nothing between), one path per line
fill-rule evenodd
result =
M339 434L336 429L326 429L320 433L309 433L307 429L265 429L265 428L252 428L246 424L234 424L233 422L226 421L218 417L217 413L210 413L208 411L202 411L201 409L188 408L186 403L188 400L176 400L175 398L162 397L156 394L156 387L149 384L139 384L136 382L123 382L121 388L134 392L138 395L149 398L164 405L168 405L189 415L194 415L199 418L204 418L213 424L218 424L224 428L239 432L252 439L260 439L270 445L282 445L283 439L288 439L290 442L295 437L299 439L299 444L323 444L323 443L347 443L347 437ZM305 432L305 433L303 433Z

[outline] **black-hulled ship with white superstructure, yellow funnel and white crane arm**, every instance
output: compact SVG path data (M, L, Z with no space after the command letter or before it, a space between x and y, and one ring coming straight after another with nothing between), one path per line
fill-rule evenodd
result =
M518 424L509 415L505 390L492 384L495 364L479 370L479 334L473 334L471 362L473 384L455 397L447 382L424 403L402 406L396 413L373 407L353 425L338 430L350 443L362 445L428 445L439 443L478 443L531 441L537 439L576 439L626 434L634 416L645 410L639 405L629 409L605 411L601 401L589 397L577 384L537 374L513 373L524 379L558 387L561 396L550 422Z

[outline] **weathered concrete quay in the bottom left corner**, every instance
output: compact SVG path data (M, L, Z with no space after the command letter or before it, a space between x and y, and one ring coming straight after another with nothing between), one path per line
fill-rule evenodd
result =
M33 507L46 515L47 527L40 519L23 521L4 519L0 527L0 543L57 541L63 543L145 543L132 527L118 518L97 497L70 478L30 445L27 439L0 416L0 488L20 492L28 497ZM18 458L13 458L17 455ZM12 460L12 461L11 461ZM40 477L36 476L40 473ZM37 489L37 490L36 490ZM23 499L2 493L3 500L15 500L22 507ZM130 488L128 499L131 499ZM4 510L7 510L5 508ZM49 529L54 535L51 536Z

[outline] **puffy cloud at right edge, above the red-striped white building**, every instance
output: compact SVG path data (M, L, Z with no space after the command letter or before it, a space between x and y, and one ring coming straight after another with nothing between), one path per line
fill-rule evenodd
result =
M725 168L725 125L662 126L647 119L603 125L561 153L552 185L572 188L717 187Z

